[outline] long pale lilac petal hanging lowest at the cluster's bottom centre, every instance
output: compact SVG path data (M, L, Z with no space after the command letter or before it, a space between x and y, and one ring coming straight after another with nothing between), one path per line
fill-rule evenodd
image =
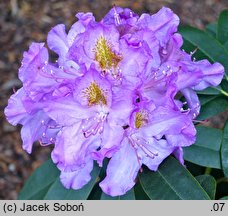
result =
M140 167L134 149L125 139L121 149L109 161L107 175L99 185L106 194L121 196L135 185Z

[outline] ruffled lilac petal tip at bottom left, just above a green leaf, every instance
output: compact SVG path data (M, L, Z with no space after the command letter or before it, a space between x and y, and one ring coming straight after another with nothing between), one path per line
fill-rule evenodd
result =
M73 172L61 171L60 181L67 189L78 190L86 185L90 179L90 173L93 169L93 160L87 159L84 166Z

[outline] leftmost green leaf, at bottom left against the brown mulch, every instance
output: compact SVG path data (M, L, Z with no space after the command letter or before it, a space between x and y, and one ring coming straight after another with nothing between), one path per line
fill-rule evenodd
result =
M42 199L45 191L51 184L59 177L59 170L52 163L51 159L43 163L36 171L30 176L25 183L18 199Z

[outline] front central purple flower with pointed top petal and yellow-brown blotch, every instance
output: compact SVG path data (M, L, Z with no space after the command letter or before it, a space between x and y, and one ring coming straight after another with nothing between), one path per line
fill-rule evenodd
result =
M115 89L91 68L76 79L72 94L45 103L45 113L62 126L52 152L61 176L81 172L89 176L91 166L87 166L87 161L96 159L101 165L104 157L111 157L119 149L122 126L127 124L132 109L130 94ZM67 178L61 179L69 185ZM72 183L72 187L79 186Z

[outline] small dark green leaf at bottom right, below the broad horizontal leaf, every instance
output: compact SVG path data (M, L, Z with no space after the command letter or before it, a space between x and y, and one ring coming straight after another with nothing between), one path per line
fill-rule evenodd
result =
M195 177L209 197L214 200L216 192L216 180L211 175L199 175Z

